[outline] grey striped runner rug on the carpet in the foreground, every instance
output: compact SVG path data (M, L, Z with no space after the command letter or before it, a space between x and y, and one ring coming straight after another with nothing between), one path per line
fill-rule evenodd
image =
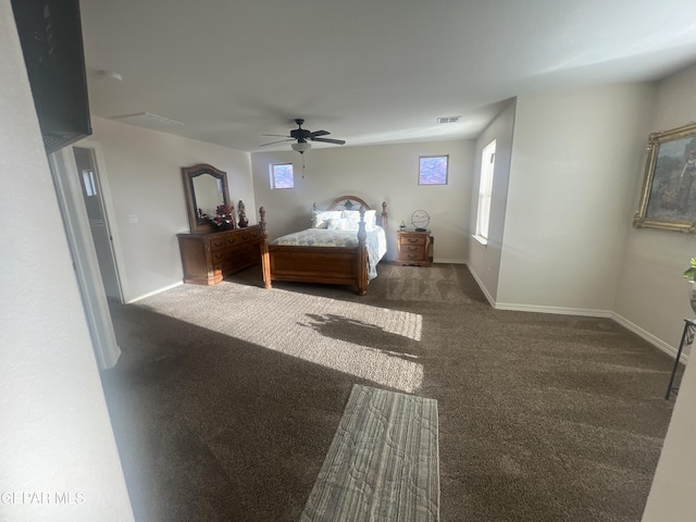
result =
M437 520L437 401L353 385L300 521Z

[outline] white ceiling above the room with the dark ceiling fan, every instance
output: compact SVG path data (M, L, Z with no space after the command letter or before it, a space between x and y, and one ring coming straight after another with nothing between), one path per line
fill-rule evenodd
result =
M259 146L295 117L347 146L474 137L511 97L696 62L694 0L80 5L92 114L151 113L184 124L161 130L247 151L289 149Z

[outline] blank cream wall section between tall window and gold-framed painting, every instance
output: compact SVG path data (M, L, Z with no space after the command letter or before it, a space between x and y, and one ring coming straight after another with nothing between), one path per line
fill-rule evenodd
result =
M654 92L518 98L497 308L611 313Z

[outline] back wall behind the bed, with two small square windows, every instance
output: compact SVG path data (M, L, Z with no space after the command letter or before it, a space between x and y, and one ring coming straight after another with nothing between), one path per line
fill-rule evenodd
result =
M395 231L401 221L412 227L411 214L423 209L431 215L435 261L463 263L470 229L473 149L469 140L316 147L304 153L304 178L299 153L257 152L251 154L256 199L266 209L271 238L307 228L314 202L322 208L338 196L355 195L378 209L386 201L387 259L391 260L396 257ZM436 154L449 154L448 184L419 186L419 157ZM294 163L295 188L272 190L269 165L289 162Z

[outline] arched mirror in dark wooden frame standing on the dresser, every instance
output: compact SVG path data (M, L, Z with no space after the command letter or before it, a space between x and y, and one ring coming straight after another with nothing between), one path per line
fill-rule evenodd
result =
M212 222L221 204L229 204L227 173L212 165L200 163L182 169L188 223L191 234L214 232Z

